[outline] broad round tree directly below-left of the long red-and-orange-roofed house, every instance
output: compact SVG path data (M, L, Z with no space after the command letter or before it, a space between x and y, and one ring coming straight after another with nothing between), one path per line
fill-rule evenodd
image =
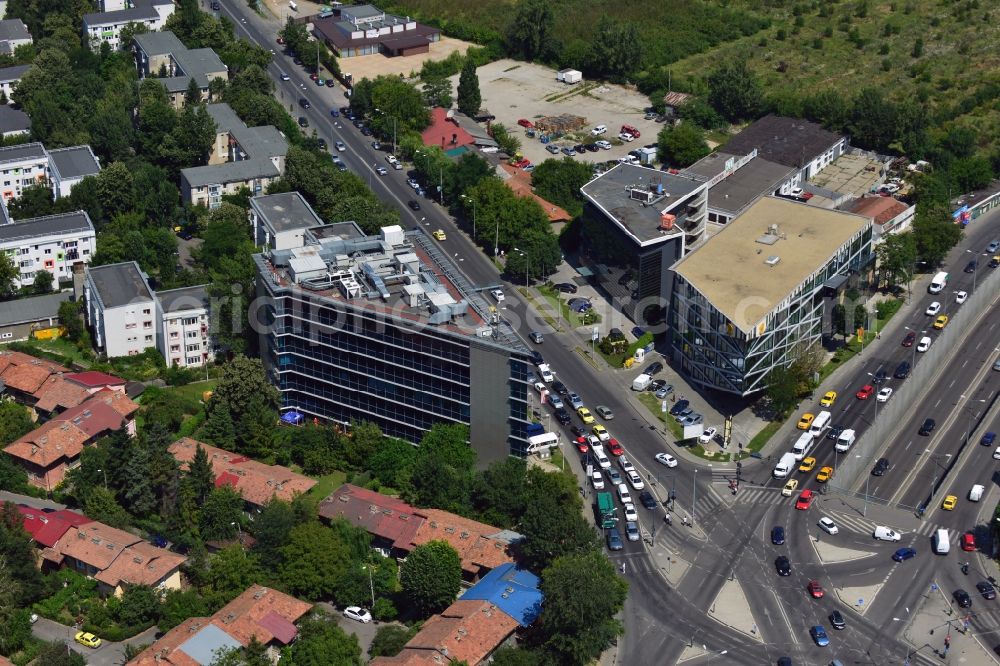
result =
M347 567L347 546L328 527L311 521L294 527L281 548L278 578L291 594L306 599L330 599Z

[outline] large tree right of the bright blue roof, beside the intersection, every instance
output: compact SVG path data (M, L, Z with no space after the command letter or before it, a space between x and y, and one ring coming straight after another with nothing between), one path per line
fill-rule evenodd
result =
M556 663L583 666L623 632L615 615L622 609L628 584L599 550L556 559L542 571L545 595L537 621L538 639ZM587 622L580 624L580 618Z

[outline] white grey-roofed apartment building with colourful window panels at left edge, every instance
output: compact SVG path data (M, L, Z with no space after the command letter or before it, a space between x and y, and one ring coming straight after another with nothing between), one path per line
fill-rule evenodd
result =
M0 221L4 219L0 215ZM90 261L97 249L96 238L90 216L82 210L0 224L0 252L8 254L21 271L17 287L30 285L44 270L52 273L52 286L58 288L60 279L72 278L74 263Z

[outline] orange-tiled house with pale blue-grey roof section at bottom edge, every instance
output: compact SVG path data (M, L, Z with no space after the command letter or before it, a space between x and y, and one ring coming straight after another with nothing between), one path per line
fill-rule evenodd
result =
M295 623L312 604L283 592L253 585L211 617L193 617L150 645L130 666L204 666L222 649L238 648L257 640L276 660L282 646L298 635Z

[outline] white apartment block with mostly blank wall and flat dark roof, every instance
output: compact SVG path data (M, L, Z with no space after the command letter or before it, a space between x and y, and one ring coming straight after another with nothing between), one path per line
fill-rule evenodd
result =
M136 262L88 266L83 300L98 351L110 358L156 347L156 296Z

